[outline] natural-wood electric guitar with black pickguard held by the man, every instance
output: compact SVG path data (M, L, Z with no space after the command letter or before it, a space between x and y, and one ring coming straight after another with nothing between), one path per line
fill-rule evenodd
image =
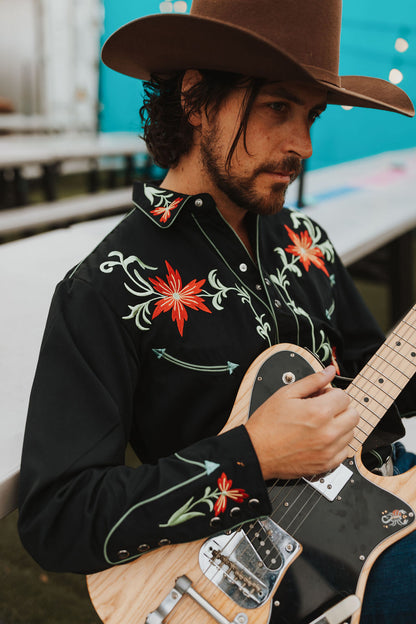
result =
M267 349L248 369L223 431L321 369L300 347ZM416 306L346 391L360 413L350 457L326 475L276 481L268 518L87 577L103 622L357 624L374 561L416 527L416 467L382 477L361 461L363 443L415 371Z

